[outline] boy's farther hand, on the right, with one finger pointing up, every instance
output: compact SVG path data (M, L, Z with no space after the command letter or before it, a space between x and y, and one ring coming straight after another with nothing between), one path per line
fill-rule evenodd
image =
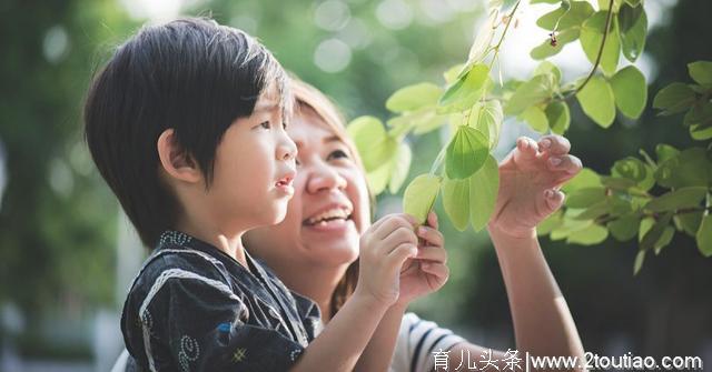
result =
M421 238L418 254L407 259L400 271L400 295L398 304L407 305L411 301L441 289L449 275L445 239L437 230L437 214L431 211L427 225L416 230Z

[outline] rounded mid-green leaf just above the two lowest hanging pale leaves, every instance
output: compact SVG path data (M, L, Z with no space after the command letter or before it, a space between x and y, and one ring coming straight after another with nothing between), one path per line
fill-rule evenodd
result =
M445 172L449 179L466 179L487 160L490 143L481 131L459 125L445 153Z

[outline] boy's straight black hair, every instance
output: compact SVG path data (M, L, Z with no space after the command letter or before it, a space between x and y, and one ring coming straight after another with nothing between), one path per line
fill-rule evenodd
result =
M116 50L89 88L86 139L144 244L154 247L182 213L159 177L160 133L175 130L209 184L225 131L267 88L289 110L287 79L259 42L209 19L146 26Z

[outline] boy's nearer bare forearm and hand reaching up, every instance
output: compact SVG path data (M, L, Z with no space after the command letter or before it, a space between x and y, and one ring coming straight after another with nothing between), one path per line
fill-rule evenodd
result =
M418 240L413 232L416 224L412 217L392 214L376 221L362 235L359 280L354 294L309 344L291 371L352 371L357 362L387 368L403 315L390 313L389 308L398 301L402 291L398 286L400 268L408 258L418 254ZM383 341L387 345L369 349L362 356L386 312L389 312L384 323L386 332L379 332L375 338L377 343Z

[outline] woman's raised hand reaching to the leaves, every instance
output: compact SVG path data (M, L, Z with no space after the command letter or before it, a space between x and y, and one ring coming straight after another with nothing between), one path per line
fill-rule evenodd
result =
M561 135L527 137L500 163L500 193L487 225L491 233L531 238L536 225L564 201L561 185L581 171L581 160L568 154L571 144Z

